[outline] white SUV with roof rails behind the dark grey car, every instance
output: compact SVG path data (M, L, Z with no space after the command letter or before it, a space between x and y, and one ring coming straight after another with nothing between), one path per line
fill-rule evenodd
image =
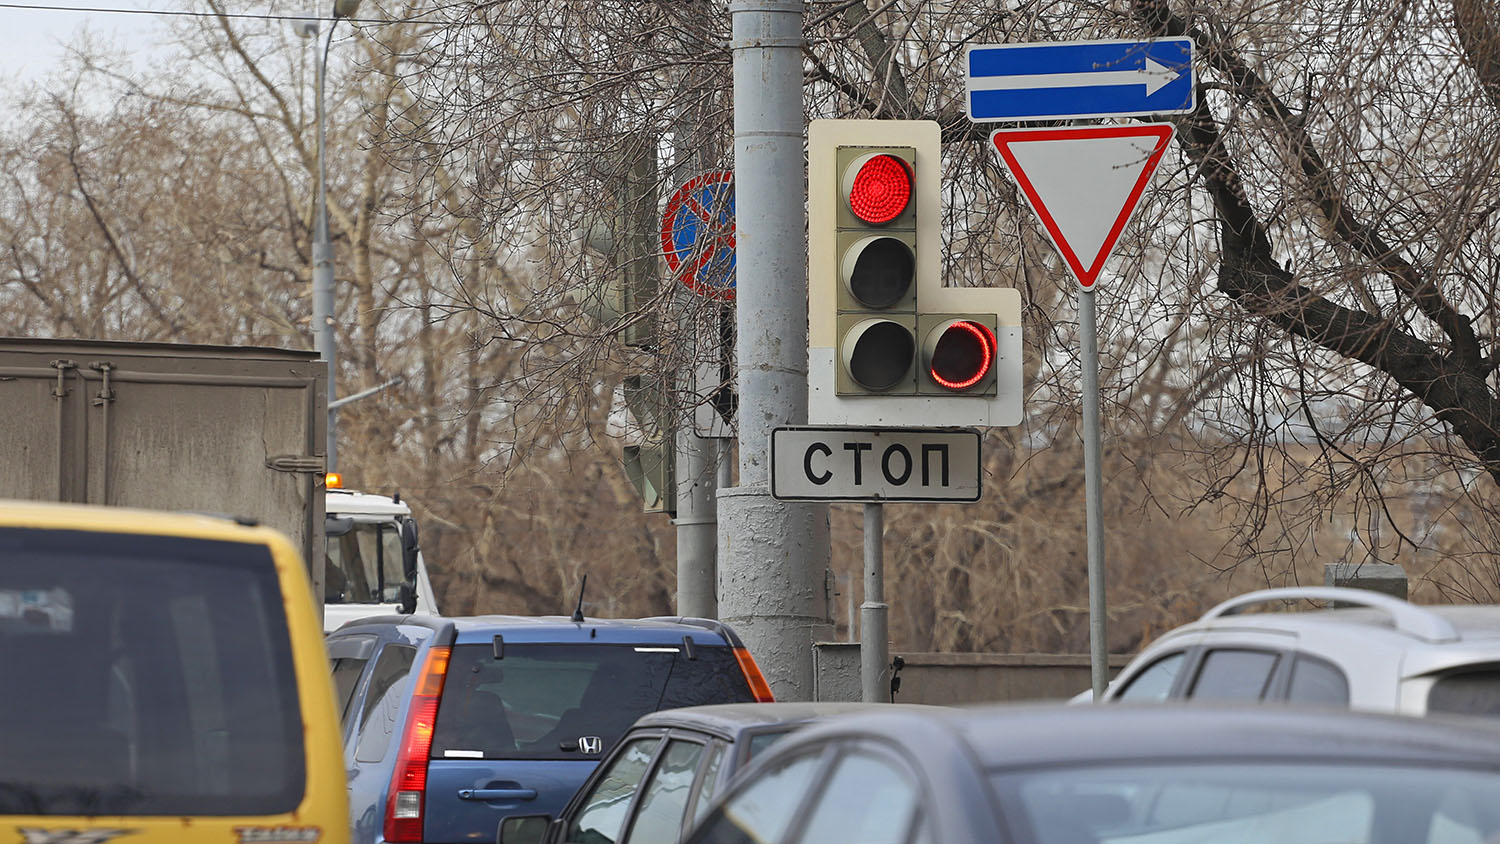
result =
M1353 607L1242 612L1304 600ZM1184 699L1500 715L1500 607L1324 586L1250 592L1152 642L1104 693Z

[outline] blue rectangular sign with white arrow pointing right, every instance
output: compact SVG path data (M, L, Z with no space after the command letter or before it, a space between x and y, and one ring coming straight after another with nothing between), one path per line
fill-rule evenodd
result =
M1192 39L974 45L969 118L1059 120L1192 111Z

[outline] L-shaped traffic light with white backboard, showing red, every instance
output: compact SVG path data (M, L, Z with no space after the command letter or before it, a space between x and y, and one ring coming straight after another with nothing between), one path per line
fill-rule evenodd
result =
M808 421L1020 421L1020 295L945 288L939 127L808 126Z

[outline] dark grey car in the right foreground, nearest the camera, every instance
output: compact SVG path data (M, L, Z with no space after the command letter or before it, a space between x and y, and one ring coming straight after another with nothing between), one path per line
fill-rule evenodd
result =
M686 844L1497 840L1500 730L1485 721L1154 705L830 720L752 760Z

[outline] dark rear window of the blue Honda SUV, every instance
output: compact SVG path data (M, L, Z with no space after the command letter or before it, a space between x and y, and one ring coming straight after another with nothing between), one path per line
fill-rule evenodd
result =
M453 648L434 759L597 759L657 709L750 702L729 648L632 645Z

